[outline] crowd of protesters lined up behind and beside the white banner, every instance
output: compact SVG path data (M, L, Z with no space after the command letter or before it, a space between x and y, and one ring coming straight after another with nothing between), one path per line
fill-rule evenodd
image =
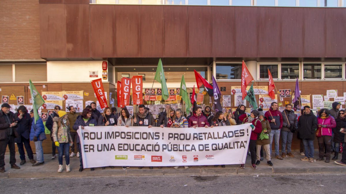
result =
M8 145L10 150L11 168L19 169L16 165L15 143L18 146L20 154L20 165L26 163L27 156L32 166L40 166L44 164L42 141L46 139L43 121L39 118L34 121L34 113L30 114L25 106L20 106L16 114L10 112L10 105L2 104L0 110L0 172L5 172L4 154ZM260 165L265 158L267 165L273 166L272 163L272 143L274 140L275 158L282 160L285 157L295 157L292 154L292 138L294 134L300 139L300 154L304 156L302 161L330 162L331 154L334 153L332 160L336 164L346 166L346 120L345 110L340 109L340 103L334 102L333 108L320 109L317 117L312 113L309 106L304 106L301 116L297 117L292 110L292 105L286 105L285 109L280 112L278 104L273 102L268 111L263 114L262 109L252 110L248 115L246 106L240 105L234 113L226 110L226 113L217 111L212 114L209 106L202 110L202 107L195 107L192 114L185 117L181 109L173 109L171 105L166 104L165 109L158 114L158 121L155 121L150 110L144 105L139 105L138 112L130 115L127 108L122 108L117 113L116 108L105 108L103 114L96 108L93 102L83 109L82 113L76 113L73 106L67 107L69 113L60 110L59 106L55 106L54 111L50 114L46 121L46 127L51 132L52 140L52 159L56 158L56 149L58 149L58 172L64 169L63 158L65 158L66 172L70 172L70 157L77 156L80 161L79 171L83 171L83 161L80 154L81 145L77 130L85 126L153 126L158 127L218 127L241 125L251 123L252 132L249 142L249 153L251 156L252 168L256 169L256 165ZM281 155L279 153L279 139L282 140ZM314 156L313 141L317 137L319 146L318 157ZM30 141L35 142L36 161L33 156ZM339 151L343 148L341 161L338 160ZM264 150L264 152L263 152ZM69 155L71 151L71 154ZM75 154L76 153L76 154ZM317 158L317 159L315 159ZM114 168L113 166L110 166ZM218 167L218 165L215 165ZM225 167L225 165L221 165ZM101 167L105 169L106 167ZM123 166L123 169L129 166ZM142 166L138 167L143 168ZM161 168L161 167L158 167ZM179 166L175 166L175 169ZM184 166L188 169L188 166ZM244 164L240 168L245 168ZM152 166L149 169L153 169ZM94 168L90 168L91 171Z

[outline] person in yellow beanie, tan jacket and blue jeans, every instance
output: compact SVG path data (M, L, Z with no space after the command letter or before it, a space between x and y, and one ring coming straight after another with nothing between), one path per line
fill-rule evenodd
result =
M56 121L53 123L53 129L52 129L52 136L55 146L58 148L58 161L59 161L59 168L58 172L63 171L63 153L65 154L65 161L66 161L66 172L70 172L70 157L69 157L69 150L70 145L73 144L73 139L70 134L70 122L69 119L67 119L67 114L63 110L58 111L59 118L54 118L53 121Z

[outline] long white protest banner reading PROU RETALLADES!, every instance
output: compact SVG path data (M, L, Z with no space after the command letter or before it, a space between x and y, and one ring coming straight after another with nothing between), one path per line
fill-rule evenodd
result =
M77 130L84 168L244 164L251 123L204 128L87 126Z

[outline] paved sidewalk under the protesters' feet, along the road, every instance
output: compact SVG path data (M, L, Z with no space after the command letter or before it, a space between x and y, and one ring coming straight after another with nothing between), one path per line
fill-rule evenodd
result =
M330 163L325 163L324 161L317 161L310 163L308 161L301 161L300 158L303 156L298 152L292 152L295 157L286 157L283 160L276 158L272 159L273 166L268 166L267 161L261 161L260 165L257 165L257 169L252 169L251 158L247 156L245 168L239 168L239 165L226 165L226 168L214 167L214 166L190 166L189 169L184 169L180 167L179 169L174 169L173 167L163 167L158 169L148 169L144 167L143 169L138 169L138 167L130 167L126 170L121 169L117 166L113 169L107 167L106 169L95 168L94 171L90 171L89 168L84 169L83 172L79 172L79 158L74 156L70 158L71 172L66 172L65 159L64 171L58 173L58 159L51 159L51 154L45 154L45 164L42 166L33 167L27 159L27 162L20 166L19 154L16 153L17 165L20 169L11 169L9 165L9 153L5 155L5 170L6 172L0 173L0 178L32 178L32 177L76 177L76 176L227 176L236 174L290 174L290 173L346 173L346 166L337 165L333 160ZM315 152L315 156L318 156L318 152ZM316 157L317 158L317 157ZM34 155L36 159L36 155ZM339 154L340 161L341 154Z

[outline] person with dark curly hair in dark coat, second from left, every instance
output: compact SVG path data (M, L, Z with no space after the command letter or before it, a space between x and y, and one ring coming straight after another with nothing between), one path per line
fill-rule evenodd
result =
M19 164L24 165L26 163L24 147L26 149L26 153L28 154L30 162L34 164L36 161L34 160L33 150L31 149L29 138L31 129L31 117L25 106L22 105L18 107L18 112L15 114L15 121L18 122L18 127L16 128L16 130L19 137L15 138L15 142L17 143L21 160Z

